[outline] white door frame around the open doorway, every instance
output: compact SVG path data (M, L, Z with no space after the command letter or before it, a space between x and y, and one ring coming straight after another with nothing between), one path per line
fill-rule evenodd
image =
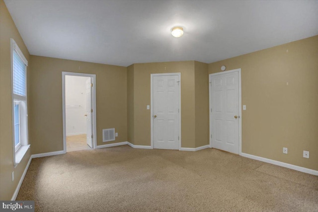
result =
M65 115L65 76L78 76L78 77L90 77L93 87L91 88L91 107L93 108L92 125L93 125L93 148L96 149L96 75L95 74L82 74L75 72L62 72L62 108L63 108L63 151L66 153L66 115Z

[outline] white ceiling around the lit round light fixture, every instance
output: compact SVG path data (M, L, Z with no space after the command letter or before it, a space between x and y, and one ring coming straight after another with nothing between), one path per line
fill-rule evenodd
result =
M4 1L31 55L119 66L211 63L318 34L318 0Z

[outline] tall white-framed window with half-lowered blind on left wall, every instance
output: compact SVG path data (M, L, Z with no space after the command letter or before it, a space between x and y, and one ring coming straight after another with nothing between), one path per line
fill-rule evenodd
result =
M21 161L30 145L28 145L26 95L26 67L28 62L13 39L11 39L11 58L13 160L14 165L16 165Z

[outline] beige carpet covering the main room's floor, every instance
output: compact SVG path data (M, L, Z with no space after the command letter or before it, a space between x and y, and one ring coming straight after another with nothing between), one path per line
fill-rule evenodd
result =
M17 200L37 212L315 212L318 176L216 149L125 145L32 159Z

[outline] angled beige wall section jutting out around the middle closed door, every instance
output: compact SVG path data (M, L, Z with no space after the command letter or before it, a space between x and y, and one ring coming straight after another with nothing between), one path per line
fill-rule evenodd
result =
M128 141L151 145L151 74L181 73L181 147L209 144L208 64L197 61L139 63L127 74Z

